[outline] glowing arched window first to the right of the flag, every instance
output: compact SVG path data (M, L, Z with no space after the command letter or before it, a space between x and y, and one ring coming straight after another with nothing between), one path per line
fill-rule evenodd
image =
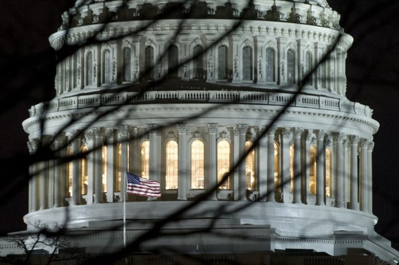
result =
M178 188L178 144L174 140L166 143L166 176L165 188L167 190Z

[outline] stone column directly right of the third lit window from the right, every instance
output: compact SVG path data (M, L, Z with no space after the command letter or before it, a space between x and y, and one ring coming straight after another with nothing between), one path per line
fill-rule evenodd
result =
M292 135L294 138L294 190L292 196L292 203L301 203L301 149L300 137L302 135L302 128L292 128Z

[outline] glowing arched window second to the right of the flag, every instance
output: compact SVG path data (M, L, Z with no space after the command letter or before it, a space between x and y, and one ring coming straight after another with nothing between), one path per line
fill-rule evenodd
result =
M191 188L204 188L204 147L203 142L195 140L191 144Z

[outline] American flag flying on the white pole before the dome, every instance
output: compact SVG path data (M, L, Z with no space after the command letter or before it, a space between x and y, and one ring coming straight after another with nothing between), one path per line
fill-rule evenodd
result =
M132 173L126 172L126 192L146 197L160 197L161 188L158 181L144 179Z

